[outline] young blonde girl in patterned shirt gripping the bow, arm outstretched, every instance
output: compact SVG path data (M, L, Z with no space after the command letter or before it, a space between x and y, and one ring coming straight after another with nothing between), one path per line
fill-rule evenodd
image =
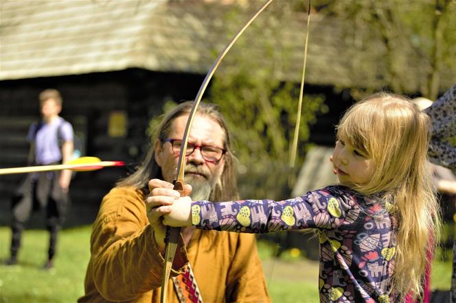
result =
M409 291L419 296L429 237L435 239L440 222L426 169L429 128L429 117L408 99L372 95L347 110L337 127L330 160L340 185L280 202L192 203L176 200L171 184L152 180L150 216L205 230L313 228L321 302L396 302Z

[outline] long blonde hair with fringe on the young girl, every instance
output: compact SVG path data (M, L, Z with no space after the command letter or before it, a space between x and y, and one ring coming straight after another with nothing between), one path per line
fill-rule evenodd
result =
M337 127L343 138L375 165L372 180L354 184L366 195L381 193L397 222L393 289L404 298L419 296L426 250L440 234L440 208L427 167L429 117L409 99L378 93L350 108ZM391 207L389 207L391 205Z

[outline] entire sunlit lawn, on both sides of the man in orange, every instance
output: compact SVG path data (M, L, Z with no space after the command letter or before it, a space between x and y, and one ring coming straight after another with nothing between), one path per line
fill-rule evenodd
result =
M84 274L89 260L91 228L63 230L56 266L41 269L47 250L47 232L27 230L19 265L0 265L0 302L76 302L84 292ZM0 228L0 260L8 258L10 230ZM260 256L273 302L318 302L318 263L286 252L273 258L273 248L262 242ZM441 254L438 254L440 258ZM440 258L441 259L441 258ZM434 261L433 289L449 289L451 260Z

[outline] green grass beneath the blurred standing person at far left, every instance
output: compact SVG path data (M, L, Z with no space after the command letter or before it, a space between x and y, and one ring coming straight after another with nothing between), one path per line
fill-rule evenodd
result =
M62 231L55 268L45 271L48 233L25 231L19 265L0 265L0 302L76 302L84 293L90 232L90 227ZM9 257L10 234L9 228L0 228L0 260Z

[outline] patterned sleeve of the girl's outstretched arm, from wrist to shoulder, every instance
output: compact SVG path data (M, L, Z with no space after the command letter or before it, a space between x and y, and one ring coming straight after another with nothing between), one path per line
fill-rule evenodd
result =
M193 202L191 211L192 224L198 228L255 233L334 229L346 220L352 223L359 215L358 207L355 208L352 201L347 203L325 190L280 202L269 199Z

